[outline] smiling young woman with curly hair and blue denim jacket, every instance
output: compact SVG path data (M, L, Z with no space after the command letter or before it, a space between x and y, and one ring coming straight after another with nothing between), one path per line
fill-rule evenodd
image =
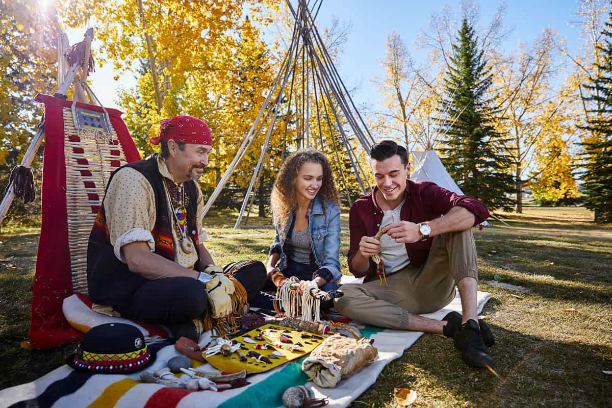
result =
M312 280L324 291L337 289L340 207L327 157L314 149L289 155L274 183L271 207L276 236L263 291L275 291L271 278L277 271L288 278ZM323 310L332 306L332 301L321 303Z

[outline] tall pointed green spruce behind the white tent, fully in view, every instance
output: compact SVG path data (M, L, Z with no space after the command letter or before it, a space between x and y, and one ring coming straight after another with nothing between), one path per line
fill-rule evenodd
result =
M513 191L510 155L504 135L493 127L499 115L488 95L491 73L474 29L463 20L444 83L439 119L445 157L442 163L465 195L479 198L490 209L511 209Z

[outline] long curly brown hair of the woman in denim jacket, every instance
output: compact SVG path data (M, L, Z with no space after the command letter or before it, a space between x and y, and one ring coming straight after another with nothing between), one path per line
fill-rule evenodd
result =
M327 157L315 149L300 149L293 152L286 158L285 163L283 163L280 171L278 171L270 199L272 222L275 226L278 226L280 234L285 234L289 214L297 207L295 182L297 172L299 172L304 163L319 163L321 165L323 168L323 181L321 182L321 189L318 195L339 204L340 197L338 196L338 190L336 190L334 173Z

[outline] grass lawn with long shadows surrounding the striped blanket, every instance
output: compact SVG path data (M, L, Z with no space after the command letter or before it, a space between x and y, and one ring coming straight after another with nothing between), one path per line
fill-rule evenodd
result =
M343 215L346 226L346 212ZM583 208L526 207L499 213L474 229L479 289L491 292L482 317L496 337L491 352L498 376L466 366L452 341L424 335L383 370L353 407L395 407L394 387L418 393L417 407L612 406L612 228L592 223ZM236 213L205 220L207 247L218 263L264 261L274 231L251 218L253 228L231 228ZM73 345L27 351L29 303L37 231L0 234L0 388L31 381L63 364ZM348 231L342 232L341 264L347 273ZM504 283L528 292L491 286ZM367 368L366 368L367 369Z

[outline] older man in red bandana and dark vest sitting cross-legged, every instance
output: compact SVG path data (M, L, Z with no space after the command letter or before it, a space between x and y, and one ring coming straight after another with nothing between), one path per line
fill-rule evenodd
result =
M206 123L191 116L161 122L151 139L161 153L122 166L108 182L89 237L88 283L94 310L169 325L198 340L201 318L232 313L242 286L250 300L266 281L261 262L214 264L201 242L204 199L198 180L212 149ZM228 278L224 270L232 270Z

